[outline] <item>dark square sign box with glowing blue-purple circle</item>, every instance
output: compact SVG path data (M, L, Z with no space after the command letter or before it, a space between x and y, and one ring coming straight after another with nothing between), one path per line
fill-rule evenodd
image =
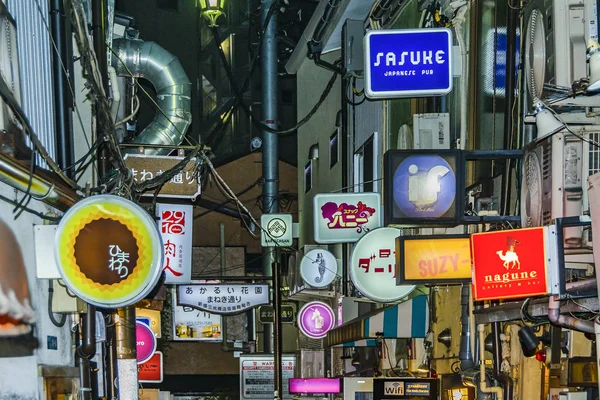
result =
M457 224L463 215L458 150L390 150L384 155L385 225Z

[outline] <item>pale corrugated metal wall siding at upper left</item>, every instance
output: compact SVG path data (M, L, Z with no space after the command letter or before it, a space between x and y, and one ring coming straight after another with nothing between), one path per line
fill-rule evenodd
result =
M50 157L56 160L56 128L52 94L52 47L44 19L48 1L7 0L6 6L17 24L17 48L21 81L21 107L29 118ZM39 7L39 9L38 9ZM16 50L16 49L15 49ZM38 155L37 165L46 167Z

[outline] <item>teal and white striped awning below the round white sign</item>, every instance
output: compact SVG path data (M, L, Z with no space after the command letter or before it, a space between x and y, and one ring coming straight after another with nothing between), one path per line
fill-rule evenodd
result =
M370 346L377 336L384 338L424 338L429 327L427 296L375 310L348 321L327 333L326 346Z

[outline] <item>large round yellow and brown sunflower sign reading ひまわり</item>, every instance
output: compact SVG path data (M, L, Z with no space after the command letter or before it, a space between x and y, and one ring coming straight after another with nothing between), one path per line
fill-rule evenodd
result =
M118 196L88 197L62 218L56 262L67 287L103 308L136 303L162 271L162 241L154 220Z

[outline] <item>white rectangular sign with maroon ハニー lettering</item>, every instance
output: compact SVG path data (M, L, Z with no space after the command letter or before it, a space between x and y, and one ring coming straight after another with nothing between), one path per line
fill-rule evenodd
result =
M383 220L379 193L317 194L313 205L317 243L356 242Z

